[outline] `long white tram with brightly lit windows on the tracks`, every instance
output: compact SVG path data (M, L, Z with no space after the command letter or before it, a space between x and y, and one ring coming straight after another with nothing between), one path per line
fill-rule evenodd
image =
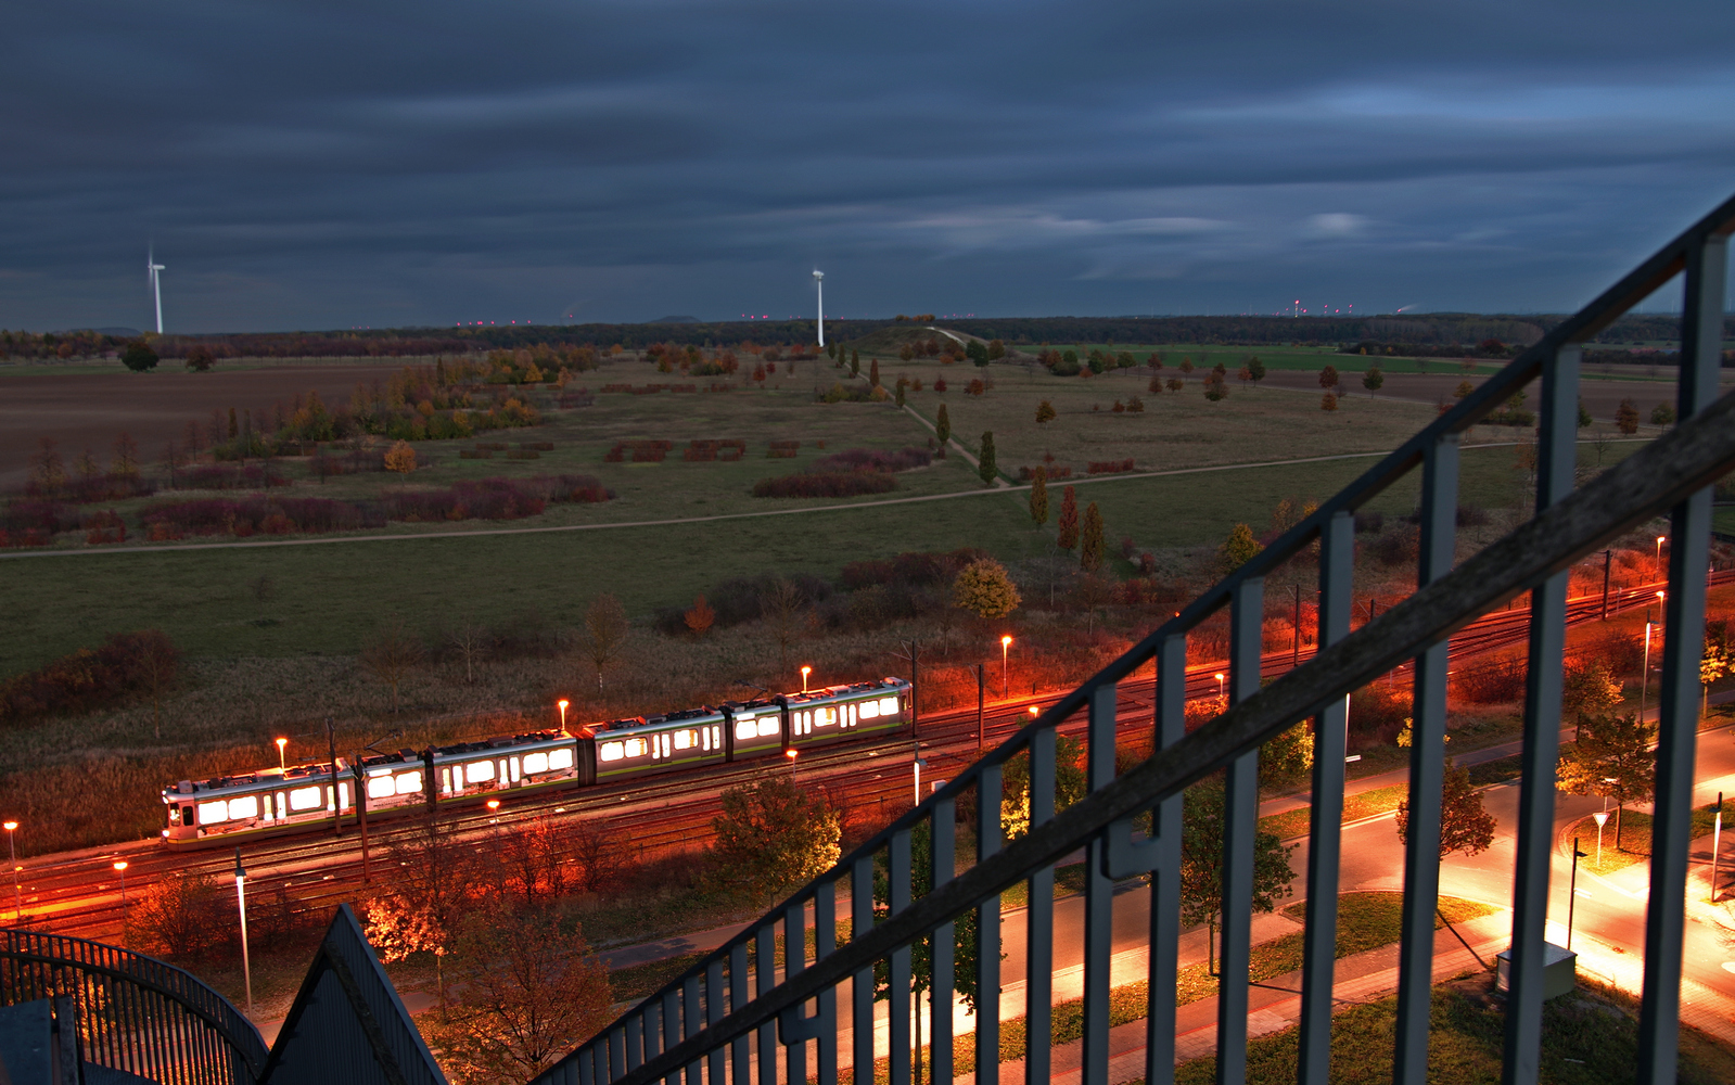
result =
M290 832L370 812L501 793L614 783L706 764L781 755L812 745L885 734L909 724L904 679L828 686L722 707L684 708L579 727L510 734L427 750L376 753L350 764L259 769L182 779L163 788L163 838L172 847Z

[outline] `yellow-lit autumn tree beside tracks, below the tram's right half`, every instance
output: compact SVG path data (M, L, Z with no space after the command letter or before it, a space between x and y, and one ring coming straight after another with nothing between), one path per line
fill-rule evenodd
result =
M841 854L843 819L782 773L729 788L711 819L718 887L763 901L831 868Z

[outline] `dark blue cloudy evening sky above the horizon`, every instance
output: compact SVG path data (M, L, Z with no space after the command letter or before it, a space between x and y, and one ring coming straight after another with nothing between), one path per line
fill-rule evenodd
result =
M1735 189L1735 3L7 9L0 326L1563 311Z

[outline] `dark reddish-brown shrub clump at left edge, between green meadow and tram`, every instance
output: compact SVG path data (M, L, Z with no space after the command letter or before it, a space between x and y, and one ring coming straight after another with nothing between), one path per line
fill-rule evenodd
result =
M40 670L0 686L0 724L17 727L29 720L90 712L168 686L180 665L180 653L161 630L115 634L101 648L80 648ZM153 674L154 672L154 674Z

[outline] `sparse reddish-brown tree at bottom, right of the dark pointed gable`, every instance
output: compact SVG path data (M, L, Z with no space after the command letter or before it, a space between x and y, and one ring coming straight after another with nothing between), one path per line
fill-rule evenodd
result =
M463 988L429 1038L458 1085L527 1082L612 1017L607 965L552 908L477 911L453 950Z

